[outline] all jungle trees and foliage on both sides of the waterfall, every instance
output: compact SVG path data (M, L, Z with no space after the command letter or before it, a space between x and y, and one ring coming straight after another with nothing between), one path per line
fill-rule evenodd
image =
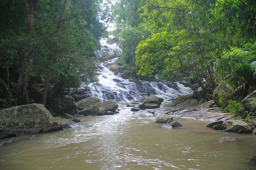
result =
M219 104L230 107L256 89L254 0L3 0L0 8L2 108L30 103L32 84L45 104L49 93L97 81L93 51L112 21L133 78L191 75L207 99L218 87Z

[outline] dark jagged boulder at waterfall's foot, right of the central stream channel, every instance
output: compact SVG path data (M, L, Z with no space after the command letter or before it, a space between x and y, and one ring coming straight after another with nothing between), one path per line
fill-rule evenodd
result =
M150 95L144 97L143 102L139 102L140 109L154 109L160 107L162 102L161 98L156 97L155 95Z

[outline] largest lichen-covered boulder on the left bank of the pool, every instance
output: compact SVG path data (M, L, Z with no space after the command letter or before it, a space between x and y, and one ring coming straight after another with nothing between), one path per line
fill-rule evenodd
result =
M14 106L0 110L0 129L16 135L62 130L61 124L42 104Z

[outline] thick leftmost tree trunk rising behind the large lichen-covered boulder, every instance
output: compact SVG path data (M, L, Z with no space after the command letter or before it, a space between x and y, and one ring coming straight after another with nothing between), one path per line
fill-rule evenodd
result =
M30 37L33 32L33 27L36 21L35 15L35 5L38 0L26 0L26 9L27 9L27 21L28 21L28 30L27 36ZM29 38L30 39L30 38ZM31 68L33 65L33 60L31 58L31 51L24 50L24 58L21 66L21 71L18 79L18 87L17 87L17 95L19 98L19 102L21 104L29 104L29 98L27 93L27 87L30 79Z

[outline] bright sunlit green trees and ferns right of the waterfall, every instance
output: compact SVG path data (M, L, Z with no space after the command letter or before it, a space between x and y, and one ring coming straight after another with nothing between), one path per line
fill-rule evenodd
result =
M255 1L120 0L113 14L122 59L134 77L191 75L208 100L217 87L220 106L255 116L255 106L240 104L255 90Z

